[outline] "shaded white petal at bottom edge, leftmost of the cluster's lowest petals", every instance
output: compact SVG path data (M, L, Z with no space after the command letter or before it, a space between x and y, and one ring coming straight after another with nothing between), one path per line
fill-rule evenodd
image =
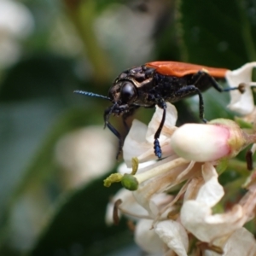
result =
M164 242L161 241L160 237L154 232L152 220L141 219L137 223L135 241L137 245L147 253L164 254Z

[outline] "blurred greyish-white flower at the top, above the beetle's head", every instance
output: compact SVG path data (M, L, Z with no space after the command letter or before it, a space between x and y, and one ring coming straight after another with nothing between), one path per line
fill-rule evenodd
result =
M118 58L119 67L129 67L136 62L145 62L152 52L154 42L150 35L154 22L152 14L138 14L123 4L113 4L97 18L95 31L102 47Z

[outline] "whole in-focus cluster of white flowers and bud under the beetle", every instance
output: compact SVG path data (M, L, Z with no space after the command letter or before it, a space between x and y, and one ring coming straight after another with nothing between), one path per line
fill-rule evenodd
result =
M123 148L125 164L119 174L105 181L106 185L121 181L126 189L108 204L106 218L108 224L118 221L121 213L133 219L135 241L143 251L179 256L256 255L249 231L256 228L244 227L255 218L256 172L248 172L246 162L235 158L256 143L253 67L256 62L226 74L230 87L244 87L242 94L230 91L229 108L241 114L237 122L214 119L206 125L177 128L176 108L167 103L160 136L162 160L156 160L152 147L162 110L156 107L148 126L134 120ZM247 129L238 125L241 120ZM218 177L224 173L233 179L220 183Z

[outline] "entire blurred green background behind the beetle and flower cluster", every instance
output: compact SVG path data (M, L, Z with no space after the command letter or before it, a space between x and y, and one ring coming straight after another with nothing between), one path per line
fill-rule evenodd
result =
M102 180L121 162L110 103L73 90L107 96L148 61L236 69L255 42L254 0L0 0L0 255L142 255L125 219L104 221L119 185ZM232 116L228 94L204 99L207 119ZM198 121L196 97L177 109L178 124Z

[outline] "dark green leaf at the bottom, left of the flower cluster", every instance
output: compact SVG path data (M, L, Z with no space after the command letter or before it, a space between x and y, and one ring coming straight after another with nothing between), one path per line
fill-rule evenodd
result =
M79 250L78 255L105 255L131 243L125 221L119 226L105 224L107 203L120 186L114 184L106 189L103 179L100 177L62 198L30 256L50 256L58 252L73 255L70 252L75 248Z

